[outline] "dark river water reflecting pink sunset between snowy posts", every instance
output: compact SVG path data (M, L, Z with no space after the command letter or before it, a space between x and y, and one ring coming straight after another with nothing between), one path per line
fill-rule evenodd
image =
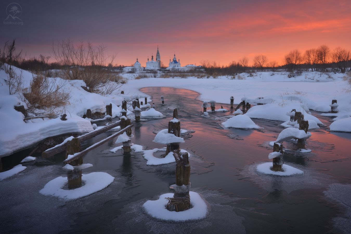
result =
M134 123L132 142L144 149L164 147L152 142L152 132L167 128L173 109L177 108L181 128L195 131L181 148L192 155L191 190L207 201L208 217L180 224L148 217L141 205L172 192L168 187L175 182L174 163L146 166L142 153L110 152L118 146L111 141L84 157L84 163L94 166L83 172L107 172L116 179L106 189L85 198L64 201L39 193L48 181L65 176L61 168L64 154L23 163L28 168L22 174L0 181L0 233L350 232L350 203L345 199L338 201L336 194L350 192L350 133L330 133L326 126L321 127L307 139L306 148L311 153L286 151L285 163L303 170L304 175L260 175L255 168L260 162L270 161L272 147L268 143L283 130L279 127L281 122L253 119L264 129L223 129L221 120L216 119L232 115L229 105L223 107L230 112L210 113L209 118L204 118L200 116L202 102L196 100L196 92L162 87L141 91L151 95L155 109L167 117ZM165 97L164 106L160 105L161 95ZM330 125L330 118L312 114ZM90 139L83 148L111 134L106 132ZM294 145L287 142L284 147L293 149ZM331 185L335 188L333 199L334 195L325 193ZM346 188L339 191L339 185Z

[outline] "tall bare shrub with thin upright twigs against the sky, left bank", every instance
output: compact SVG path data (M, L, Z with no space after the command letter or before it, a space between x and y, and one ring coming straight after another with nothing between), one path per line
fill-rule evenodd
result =
M107 64L112 64L115 55L106 54L106 46L93 47L91 42L80 42L74 45L70 39L58 41L52 45L53 57L64 67L64 79L83 80L90 92L105 94L114 92L121 87L121 83L114 85L116 74L107 69ZM108 87L105 87L108 86Z

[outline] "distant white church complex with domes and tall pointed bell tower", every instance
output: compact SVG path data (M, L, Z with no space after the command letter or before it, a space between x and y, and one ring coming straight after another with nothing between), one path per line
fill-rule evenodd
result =
M156 60L154 60L153 55L151 56L151 60L147 58L146 66L141 67L140 62L137 61L134 63L134 66L132 67L124 67L123 72L140 72L140 71L150 71L150 70L160 70L161 69L161 56L160 52L157 47L157 53L156 53ZM173 60L170 59L170 63L168 64L168 67L166 70L172 70L172 71L189 71L192 69L199 69L203 70L203 67L201 66L195 66L193 64L186 65L185 67L182 67L180 65L180 59L176 58L176 54L174 54Z

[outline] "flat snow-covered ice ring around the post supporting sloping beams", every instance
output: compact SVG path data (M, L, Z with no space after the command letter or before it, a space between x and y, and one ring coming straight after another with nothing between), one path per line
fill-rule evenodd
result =
M59 176L47 182L39 193L43 195L57 196L66 200L72 200L96 193L110 185L113 180L114 177L105 172L82 174L82 183L84 183L84 185L79 188L68 190L62 189L68 183L67 177Z

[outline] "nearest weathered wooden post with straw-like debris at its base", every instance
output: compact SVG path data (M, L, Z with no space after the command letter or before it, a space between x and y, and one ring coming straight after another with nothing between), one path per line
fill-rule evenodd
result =
M174 195L173 198L166 198L166 209L180 212L190 208L190 163L188 153L180 153L178 150L173 151L173 155L176 159L176 183L170 186L174 189Z

